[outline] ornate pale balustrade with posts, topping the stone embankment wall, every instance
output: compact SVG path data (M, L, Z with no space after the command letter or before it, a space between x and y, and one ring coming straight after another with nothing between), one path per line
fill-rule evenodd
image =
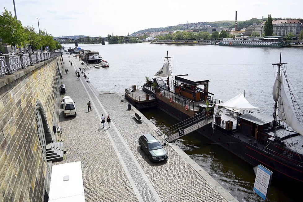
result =
M58 55L61 55L61 52L1 55L0 77L3 77L7 74L14 74L20 69L26 69L29 66L35 65L47 59L51 59Z

